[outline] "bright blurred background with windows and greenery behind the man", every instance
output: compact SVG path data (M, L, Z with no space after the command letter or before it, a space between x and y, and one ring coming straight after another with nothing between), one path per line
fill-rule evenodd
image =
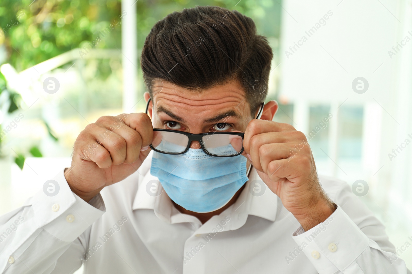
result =
M145 37L195 5L255 20L274 120L307 135L318 173L361 182L412 269L411 0L1 0L0 214L70 166L87 124L144 111Z

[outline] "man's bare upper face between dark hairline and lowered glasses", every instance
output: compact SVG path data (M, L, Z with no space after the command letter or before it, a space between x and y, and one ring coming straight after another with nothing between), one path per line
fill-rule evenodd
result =
M152 92L154 108L149 108L148 114L152 117L153 128L193 134L244 132L248 122L253 119L245 92L238 81L201 92L187 90L166 81L155 81ZM200 148L199 142L192 141L190 147Z

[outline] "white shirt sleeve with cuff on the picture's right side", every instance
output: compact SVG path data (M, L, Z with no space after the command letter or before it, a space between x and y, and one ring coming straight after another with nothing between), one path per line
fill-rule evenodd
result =
M323 223L292 234L319 274L406 274L405 262L385 233L384 225L342 185L334 202L337 209Z

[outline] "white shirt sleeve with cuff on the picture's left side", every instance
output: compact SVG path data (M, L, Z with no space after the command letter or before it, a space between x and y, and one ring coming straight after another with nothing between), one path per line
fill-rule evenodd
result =
M91 225L105 212L103 199L98 194L85 202L71 191L63 170L50 183L0 216L0 273L50 274L82 265ZM62 260L63 253L77 260Z

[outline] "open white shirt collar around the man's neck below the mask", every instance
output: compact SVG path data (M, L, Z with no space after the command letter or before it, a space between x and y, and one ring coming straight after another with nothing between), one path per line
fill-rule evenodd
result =
M146 191L147 184L151 185L152 180L158 178L150 174L150 166L152 163L153 152L150 152L139 171L139 186L136 192L136 196L133 200L132 211L139 209L154 210L156 216L162 219L166 223L183 223L192 222L201 225L199 219L192 215L181 214L173 206L171 199L167 196L166 192L162 189L161 194L158 196L151 196ZM258 172L254 167L250 169L249 180L246 182L246 186L241 192L236 202L228 207L220 215L228 215L234 221L230 222L231 230L238 229L246 223L248 215L254 215L261 218L265 218L269 221L275 221L278 205L278 196L274 194L260 179ZM156 182L156 181L153 181ZM251 186L252 185L252 186ZM261 196L253 195L253 187L261 187L263 194ZM161 184L159 187L162 188Z

